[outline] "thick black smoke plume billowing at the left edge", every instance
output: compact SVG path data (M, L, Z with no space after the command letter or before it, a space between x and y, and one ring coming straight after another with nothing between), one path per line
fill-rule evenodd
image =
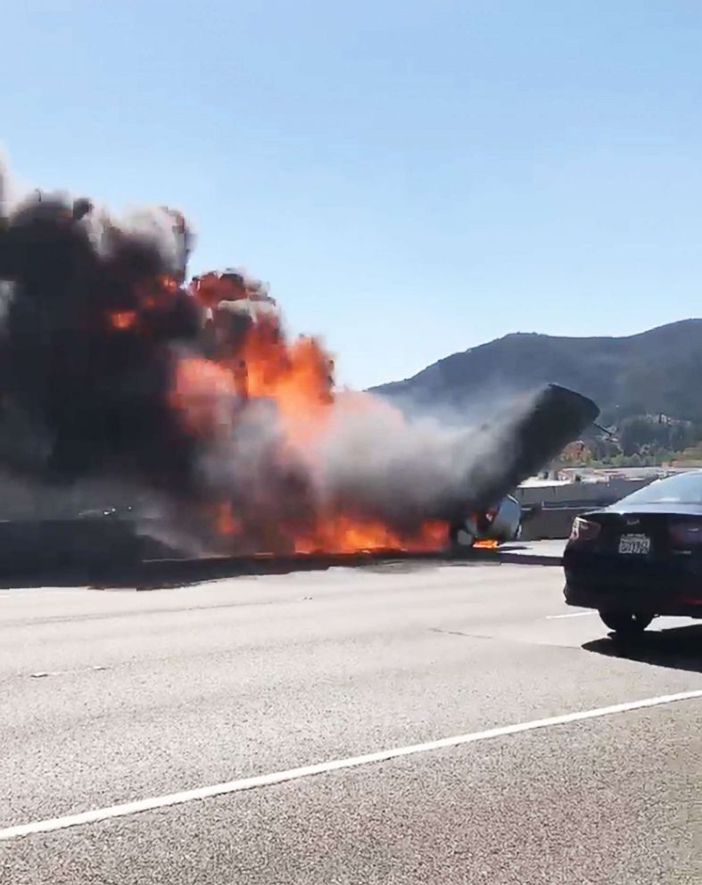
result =
M121 227L86 200L41 194L0 223L4 467L187 487L194 443L167 401L172 345L199 329L193 300L171 291L187 232L166 211Z

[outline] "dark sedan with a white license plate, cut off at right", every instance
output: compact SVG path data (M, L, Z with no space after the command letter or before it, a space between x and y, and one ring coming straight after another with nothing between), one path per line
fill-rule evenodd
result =
M568 605L617 633L654 617L702 617L702 471L657 480L576 517L563 558Z

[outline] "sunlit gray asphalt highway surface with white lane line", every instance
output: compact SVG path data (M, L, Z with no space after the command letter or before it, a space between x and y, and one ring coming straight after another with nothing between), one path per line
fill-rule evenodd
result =
M691 885L700 670L557 567L3 590L0 881Z

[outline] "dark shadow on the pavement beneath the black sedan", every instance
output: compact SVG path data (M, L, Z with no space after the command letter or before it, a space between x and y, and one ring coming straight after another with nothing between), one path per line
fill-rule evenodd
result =
M609 658L626 658L642 664L702 673L702 624L650 631L627 639L610 634L603 639L585 642L582 648Z

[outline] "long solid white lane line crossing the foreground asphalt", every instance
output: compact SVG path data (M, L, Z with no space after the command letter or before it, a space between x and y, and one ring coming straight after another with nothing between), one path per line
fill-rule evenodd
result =
M579 713L549 716L548 719L534 719L532 722L501 725L499 728L491 728L486 732L459 734L458 736L451 738L429 740L423 744L410 744L408 747L384 749L377 753L367 753L365 756L353 756L348 759L334 759L330 762L319 762L317 765L302 765L301 768L290 768L285 772L258 774L255 777L245 777L239 781L216 783L211 787L200 787L196 790L183 790L180 793L171 793L169 796L155 796L153 798L138 799L136 802L125 802L123 805L95 808L93 811L86 811L79 815L66 815L65 817L54 817L45 821L22 823L20 826L7 827L4 830L0 830L0 841L19 839L21 836L31 836L40 832L67 830L69 827L81 826L87 823L98 823L99 821L107 821L115 817L138 815L145 811L153 811L156 808L185 805L187 802L196 802L215 796L224 796L228 793L254 790L257 787L270 787L273 784L285 783L288 781L298 781L301 778L312 777L314 774L336 772L343 768L359 768L361 765L372 765L377 762L387 762L390 759L398 759L404 756L415 756L417 753L426 753L435 749L460 747L464 744L476 743L478 740L502 738L510 734L532 732L539 728L549 728L551 725L566 725L573 722L583 722L586 719L597 719L599 716L613 715L615 713L628 713L630 710L640 710L645 707L657 707L661 704L672 704L674 701L690 700L694 698L702 698L702 689L695 691L681 691L678 694L660 695L657 698L633 700L625 704L615 704L612 707L598 707L594 710L583 710Z

